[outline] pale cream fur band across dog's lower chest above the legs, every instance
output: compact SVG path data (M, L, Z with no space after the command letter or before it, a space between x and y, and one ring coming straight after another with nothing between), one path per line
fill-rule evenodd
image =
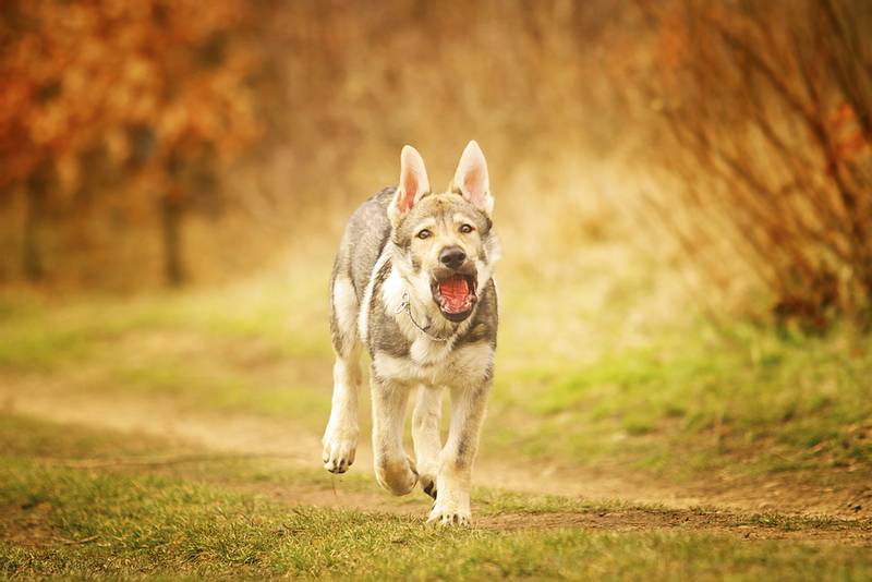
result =
M398 384L426 384L431 386L479 385L493 375L494 349L487 342L477 342L458 349L444 349L439 357L397 357L378 352L373 357L375 374Z

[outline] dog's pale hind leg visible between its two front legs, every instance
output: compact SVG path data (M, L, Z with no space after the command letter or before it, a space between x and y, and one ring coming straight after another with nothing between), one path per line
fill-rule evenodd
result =
M415 444L421 488L436 499L436 474L439 471L439 420L443 412L443 389L422 385L417 389L412 415L412 440Z

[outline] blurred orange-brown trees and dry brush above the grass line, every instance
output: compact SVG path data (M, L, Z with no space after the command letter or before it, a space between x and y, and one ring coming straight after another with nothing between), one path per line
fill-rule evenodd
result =
M301 241L331 244L393 182L403 144L447 183L476 138L508 239L546 237L536 255L656 232L712 287L768 292L780 318L868 319L864 2L12 1L0 14L3 282L243 277Z

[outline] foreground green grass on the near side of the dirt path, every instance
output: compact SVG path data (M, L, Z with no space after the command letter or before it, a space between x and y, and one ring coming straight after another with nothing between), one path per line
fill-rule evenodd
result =
M167 447L174 445L0 416L0 575L257 580L872 575L869 553L840 544L749 542L715 530L687 529L443 531L423 526L420 518L289 506L240 487L251 480L253 489L264 481L286 483L291 490L292 485L316 485L314 477L287 468L255 464L253 472L246 472L239 464L195 463L83 470L59 463L82 457L136 458ZM289 477L296 481L286 481ZM493 516L519 507L534 513L620 509L498 492L480 496L484 513ZM747 521L784 531L822 525L777 516Z

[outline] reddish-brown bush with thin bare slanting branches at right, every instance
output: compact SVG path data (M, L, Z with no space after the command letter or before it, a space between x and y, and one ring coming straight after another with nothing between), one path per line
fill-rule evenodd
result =
M640 5L656 23L638 85L649 159L677 179L649 196L654 216L716 286L738 259L782 322L872 324L868 3Z

